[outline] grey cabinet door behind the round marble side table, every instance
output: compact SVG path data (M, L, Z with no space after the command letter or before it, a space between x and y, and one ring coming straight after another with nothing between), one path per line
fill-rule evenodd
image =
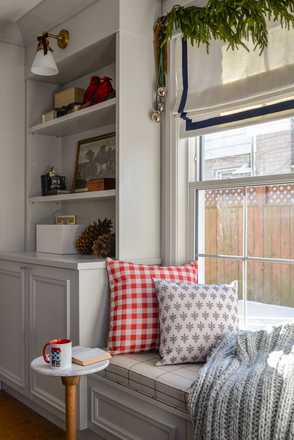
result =
M29 362L52 339L76 339L75 271L31 265L29 271ZM47 347L48 353L48 347ZM65 387L60 378L29 371L29 397L64 418Z

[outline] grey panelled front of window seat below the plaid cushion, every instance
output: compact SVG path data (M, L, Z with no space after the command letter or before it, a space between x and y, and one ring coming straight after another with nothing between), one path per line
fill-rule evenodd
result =
M88 400L88 428L107 440L186 440L181 411L98 374L88 376Z

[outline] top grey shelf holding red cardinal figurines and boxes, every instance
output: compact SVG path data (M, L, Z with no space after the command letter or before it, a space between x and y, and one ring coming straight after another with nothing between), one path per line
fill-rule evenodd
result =
M47 136L70 136L74 133L115 122L116 98L83 110L29 127L29 133Z

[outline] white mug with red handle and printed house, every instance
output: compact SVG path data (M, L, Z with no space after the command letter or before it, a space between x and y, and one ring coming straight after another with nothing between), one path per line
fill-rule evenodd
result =
M46 347L49 345L49 357L46 356ZM44 361L52 370L66 370L71 367L71 341L70 339L53 339L43 348Z

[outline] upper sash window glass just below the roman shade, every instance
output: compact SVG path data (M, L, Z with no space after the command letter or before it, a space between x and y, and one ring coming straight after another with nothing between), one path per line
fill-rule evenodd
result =
M294 171L294 118L202 136L202 180Z

